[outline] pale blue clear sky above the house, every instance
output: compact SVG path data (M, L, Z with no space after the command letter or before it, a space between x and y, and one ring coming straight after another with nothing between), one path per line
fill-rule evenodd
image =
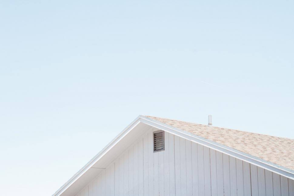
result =
M294 138L293 1L1 1L1 195L51 195L139 114Z

